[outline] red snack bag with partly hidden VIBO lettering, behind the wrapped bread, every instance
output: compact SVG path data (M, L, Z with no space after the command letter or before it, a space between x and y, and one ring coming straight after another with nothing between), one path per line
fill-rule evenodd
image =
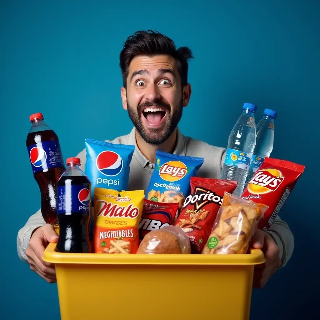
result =
M179 203L160 203L144 199L139 223L140 240L150 231L173 225L178 215Z

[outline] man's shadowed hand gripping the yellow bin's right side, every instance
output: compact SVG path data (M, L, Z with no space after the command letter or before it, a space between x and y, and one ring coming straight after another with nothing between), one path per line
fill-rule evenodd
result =
M266 258L265 263L255 266L253 274L253 287L262 288L281 264L279 247L267 232L260 229L252 237L251 245L261 249Z

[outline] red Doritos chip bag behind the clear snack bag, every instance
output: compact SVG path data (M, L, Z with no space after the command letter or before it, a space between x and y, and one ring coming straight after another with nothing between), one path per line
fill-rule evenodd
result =
M191 177L187 196L175 223L189 237L191 253L201 253L210 236L225 191L232 193L237 181Z

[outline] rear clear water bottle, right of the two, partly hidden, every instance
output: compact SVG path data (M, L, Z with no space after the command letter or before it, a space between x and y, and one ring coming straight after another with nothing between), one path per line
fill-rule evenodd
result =
M265 109L263 117L256 127L256 146L253 151L249 166L247 184L254 173L259 169L265 157L269 157L273 149L273 135L277 113L271 109Z

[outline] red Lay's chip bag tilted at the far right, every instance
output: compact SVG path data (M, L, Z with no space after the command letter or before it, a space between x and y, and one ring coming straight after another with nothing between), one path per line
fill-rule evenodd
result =
M269 206L258 228L267 231L305 169L290 161L265 158L241 197Z

